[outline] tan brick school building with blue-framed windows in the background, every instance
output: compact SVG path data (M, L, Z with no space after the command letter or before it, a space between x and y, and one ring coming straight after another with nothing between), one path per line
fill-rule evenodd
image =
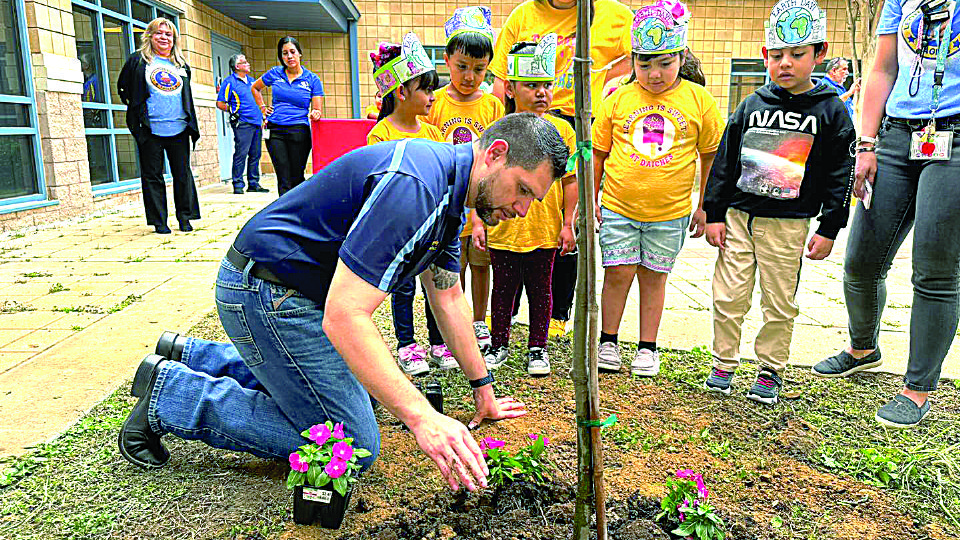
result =
M821 0L830 56L849 56L846 0ZM626 2L632 8L641 0ZM691 49L708 89L731 111L764 84L763 21L773 0L691 0ZM519 1L479 2L499 27ZM356 118L373 101L368 53L416 32L443 66L443 23L471 3L407 0L0 0L0 232L88 214L140 197L136 145L116 80L146 24L176 24L193 71L202 137L191 158L200 185L229 177L233 137L215 107L227 59L244 53L257 76L292 35L323 81L324 115ZM849 82L849 81L848 81ZM269 102L269 91L265 94ZM263 169L270 171L263 153ZM308 165L309 168L309 165ZM170 202L172 204L172 201Z

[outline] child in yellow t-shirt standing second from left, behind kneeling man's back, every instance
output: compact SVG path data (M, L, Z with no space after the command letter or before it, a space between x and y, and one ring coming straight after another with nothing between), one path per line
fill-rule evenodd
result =
M479 139L487 126L503 116L503 103L480 90L487 65L493 60L490 8L457 9L444 25L444 32L447 48L443 61L450 69L450 84L434 94L427 122L440 129L444 141L467 144ZM460 233L460 285L466 288L469 266L473 331L480 349L486 352L490 348L490 330L484 320L490 290L490 256L477 247L483 245L484 235L483 222L471 211Z

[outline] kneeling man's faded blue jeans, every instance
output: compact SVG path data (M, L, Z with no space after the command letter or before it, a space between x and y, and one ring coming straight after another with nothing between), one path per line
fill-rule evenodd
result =
M323 333L323 309L224 259L216 302L230 343L190 338L183 362L158 370L148 409L157 433L276 459L314 424L343 422L354 446L380 452L369 395Z

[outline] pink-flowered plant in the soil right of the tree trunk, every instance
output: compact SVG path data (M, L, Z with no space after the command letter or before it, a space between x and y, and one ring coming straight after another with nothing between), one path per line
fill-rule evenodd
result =
M690 469L681 469L675 478L667 480L667 494L660 499L657 520L666 518L677 523L671 532L684 538L723 540L723 520L708 502L709 496L703 476Z

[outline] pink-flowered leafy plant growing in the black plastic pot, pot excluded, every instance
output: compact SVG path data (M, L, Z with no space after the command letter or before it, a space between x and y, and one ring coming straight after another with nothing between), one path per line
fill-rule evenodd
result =
M304 484L323 487L333 482L333 489L345 496L357 481L360 471L357 459L370 457L370 451L354 448L353 437L343 433L343 424L329 420L305 429L300 435L313 442L290 454L287 489Z

